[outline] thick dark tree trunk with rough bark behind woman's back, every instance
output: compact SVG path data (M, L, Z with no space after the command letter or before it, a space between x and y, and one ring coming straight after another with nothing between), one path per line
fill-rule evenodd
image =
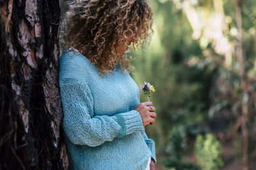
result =
M0 0L0 10L0 170L67 169L59 1Z

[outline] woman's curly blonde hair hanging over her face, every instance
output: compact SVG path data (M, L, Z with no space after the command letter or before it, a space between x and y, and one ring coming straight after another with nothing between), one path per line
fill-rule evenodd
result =
M76 48L101 74L110 73L119 62L120 69L130 73L132 57L118 56L116 47L127 45L128 38L135 40L134 48L149 45L152 15L145 0L76 0L63 20L61 45L64 50Z

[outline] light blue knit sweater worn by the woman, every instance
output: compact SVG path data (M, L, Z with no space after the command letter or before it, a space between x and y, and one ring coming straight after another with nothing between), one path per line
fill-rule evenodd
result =
M74 53L61 54L59 75L70 169L145 170L156 153L134 110L140 104L138 85L118 65L99 76L95 65Z

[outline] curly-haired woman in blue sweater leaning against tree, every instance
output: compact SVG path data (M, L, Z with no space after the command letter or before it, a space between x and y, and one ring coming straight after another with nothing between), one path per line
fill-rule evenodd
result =
M145 125L156 109L140 103L129 73L129 45L148 45L152 10L144 0L70 4L60 57L63 129L70 169L154 169L155 144Z

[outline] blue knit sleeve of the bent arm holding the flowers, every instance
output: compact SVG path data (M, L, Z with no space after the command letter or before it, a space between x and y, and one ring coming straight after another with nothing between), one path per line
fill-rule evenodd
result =
M63 129L76 145L99 146L132 132L143 131L140 113L131 110L113 116L93 114L93 96L86 83L72 78L60 82Z

